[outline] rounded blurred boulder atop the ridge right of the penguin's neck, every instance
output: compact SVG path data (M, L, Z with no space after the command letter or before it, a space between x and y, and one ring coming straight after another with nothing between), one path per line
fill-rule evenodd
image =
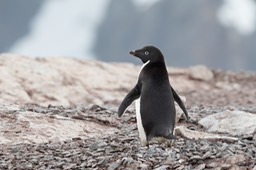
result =
M210 81L214 78L213 72L203 65L193 66L189 69L189 76L192 79Z

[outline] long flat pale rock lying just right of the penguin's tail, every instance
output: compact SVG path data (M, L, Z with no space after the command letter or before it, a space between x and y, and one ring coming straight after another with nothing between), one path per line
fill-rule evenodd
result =
M185 126L176 126L174 129L174 133L175 135L178 135L187 139L195 139L195 140L204 139L204 140L215 141L215 142L216 141L224 141L224 142L238 141L238 138L235 138L235 137L190 130Z

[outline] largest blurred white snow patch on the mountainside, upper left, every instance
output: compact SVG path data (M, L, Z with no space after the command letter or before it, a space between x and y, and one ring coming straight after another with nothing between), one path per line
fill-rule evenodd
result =
M95 58L96 28L108 6L105 1L48 0L31 23L31 31L11 52L32 56Z

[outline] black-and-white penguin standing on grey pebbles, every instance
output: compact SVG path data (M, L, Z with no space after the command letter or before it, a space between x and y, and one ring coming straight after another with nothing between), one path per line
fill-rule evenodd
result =
M178 94L171 87L164 56L154 46L146 46L130 52L144 63L135 87L127 94L118 108L121 117L127 107L136 100L136 119L139 137L143 146L149 141L175 139L176 110L174 100L189 119L187 110Z

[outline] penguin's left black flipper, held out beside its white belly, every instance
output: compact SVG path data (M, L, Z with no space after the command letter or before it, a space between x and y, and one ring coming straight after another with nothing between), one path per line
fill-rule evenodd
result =
M124 98L122 101L121 105L118 108L118 116L121 117L123 113L125 112L126 108L130 106L130 104L138 99L140 97L140 92L141 92L141 86L140 83L138 82L135 87L127 94L127 96Z

